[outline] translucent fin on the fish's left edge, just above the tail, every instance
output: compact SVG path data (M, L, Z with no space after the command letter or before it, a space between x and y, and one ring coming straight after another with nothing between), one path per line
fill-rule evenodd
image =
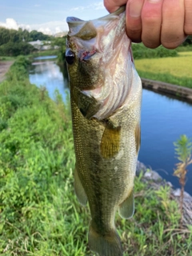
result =
M82 206L86 206L87 196L82 186L82 182L78 177L78 170L76 166L74 168L74 191L75 191L75 194L77 195L78 201L82 204Z

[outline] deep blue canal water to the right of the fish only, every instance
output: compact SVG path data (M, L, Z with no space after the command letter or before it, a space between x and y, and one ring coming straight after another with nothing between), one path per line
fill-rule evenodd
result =
M179 183L173 171L178 159L173 142L182 134L192 138L192 105L143 90L142 146L138 159L176 187ZM192 194L192 165L188 170L186 191Z

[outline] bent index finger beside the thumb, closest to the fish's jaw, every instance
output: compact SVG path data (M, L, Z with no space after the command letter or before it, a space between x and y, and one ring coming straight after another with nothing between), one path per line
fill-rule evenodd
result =
M126 34L133 42L141 42L142 5L144 0L130 0L126 6Z

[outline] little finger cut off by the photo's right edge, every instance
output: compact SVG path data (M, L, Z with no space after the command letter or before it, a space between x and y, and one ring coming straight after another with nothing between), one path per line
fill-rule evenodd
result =
M185 1L185 24L184 31L186 34L192 34L192 1Z

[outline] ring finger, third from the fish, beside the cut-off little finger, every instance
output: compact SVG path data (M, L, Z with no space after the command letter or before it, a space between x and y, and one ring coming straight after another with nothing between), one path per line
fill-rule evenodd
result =
M162 45L168 49L178 47L185 40L184 0L164 0L162 4Z

